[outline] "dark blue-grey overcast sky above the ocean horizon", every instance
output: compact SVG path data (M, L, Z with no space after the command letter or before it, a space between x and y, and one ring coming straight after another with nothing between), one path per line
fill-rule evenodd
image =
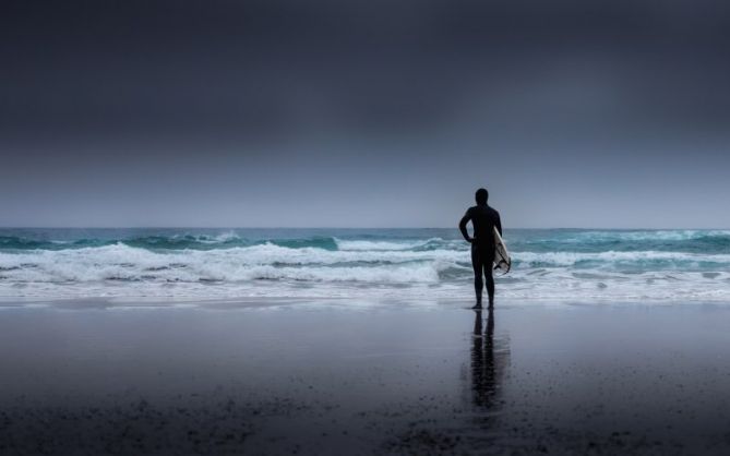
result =
M730 2L2 1L2 226L730 227Z

